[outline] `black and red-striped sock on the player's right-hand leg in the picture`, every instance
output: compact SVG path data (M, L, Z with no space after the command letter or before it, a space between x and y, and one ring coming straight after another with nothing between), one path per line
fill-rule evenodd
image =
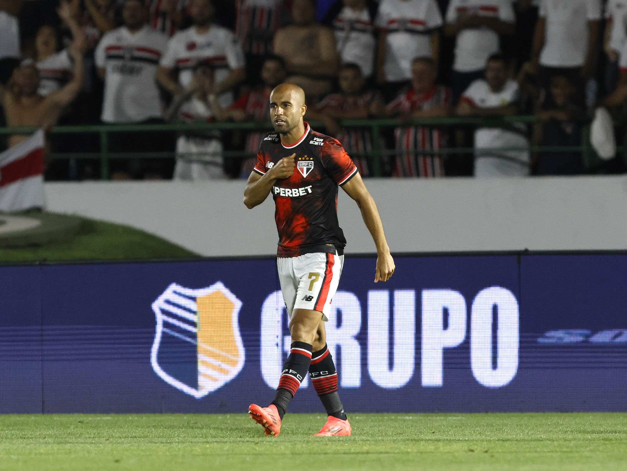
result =
M318 393L325 410L327 410L327 415L346 420L344 407L342 407L340 395L337 393L335 363L333 363L333 357L326 345L323 349L312 354L309 377L312 378L315 391Z

